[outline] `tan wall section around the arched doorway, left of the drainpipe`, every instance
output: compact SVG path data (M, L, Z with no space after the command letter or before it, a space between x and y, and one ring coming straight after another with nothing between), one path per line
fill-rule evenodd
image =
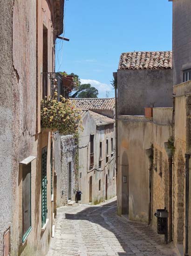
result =
M129 176L129 218L148 222L149 160L145 150L151 146L152 124L145 117L119 116L118 119L118 214L123 213L126 204L122 190L123 176ZM128 159L128 166L124 163L124 154ZM122 174L123 166L129 169L129 175L128 171L126 175Z

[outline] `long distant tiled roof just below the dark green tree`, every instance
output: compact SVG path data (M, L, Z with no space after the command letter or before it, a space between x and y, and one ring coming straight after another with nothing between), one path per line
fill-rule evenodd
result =
M71 98L71 100L81 110L113 110L115 108L115 98Z

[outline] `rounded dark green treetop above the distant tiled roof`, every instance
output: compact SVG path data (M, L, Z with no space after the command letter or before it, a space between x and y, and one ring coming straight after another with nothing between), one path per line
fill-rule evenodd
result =
M72 98L97 98L98 90L90 84L80 84Z

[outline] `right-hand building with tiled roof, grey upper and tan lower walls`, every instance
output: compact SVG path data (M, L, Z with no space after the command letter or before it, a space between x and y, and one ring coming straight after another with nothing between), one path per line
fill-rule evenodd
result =
M118 214L156 228L155 211L172 207L172 52L123 53L114 77ZM145 117L144 108L153 106Z

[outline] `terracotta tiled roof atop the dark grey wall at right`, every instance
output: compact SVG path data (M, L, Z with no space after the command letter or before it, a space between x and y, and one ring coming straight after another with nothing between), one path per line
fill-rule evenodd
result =
M122 53L118 69L171 69L172 51Z

